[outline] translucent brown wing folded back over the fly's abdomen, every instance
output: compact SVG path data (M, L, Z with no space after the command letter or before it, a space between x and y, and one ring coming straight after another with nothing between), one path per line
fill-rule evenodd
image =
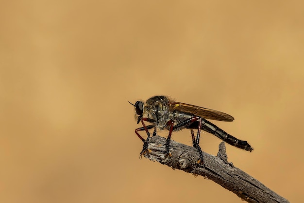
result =
M191 104L170 101L170 109L175 111L182 111L201 116L202 118L217 120L217 121L233 121L234 117L220 111L206 109Z

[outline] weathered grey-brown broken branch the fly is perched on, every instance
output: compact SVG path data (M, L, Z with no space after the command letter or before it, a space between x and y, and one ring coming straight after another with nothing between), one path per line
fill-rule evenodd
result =
M165 157L166 138L152 136L144 156L172 168L203 176L232 191L249 203L289 203L268 187L227 162L225 144L220 144L218 156L203 152L203 164L198 151L190 146L170 141L171 157Z

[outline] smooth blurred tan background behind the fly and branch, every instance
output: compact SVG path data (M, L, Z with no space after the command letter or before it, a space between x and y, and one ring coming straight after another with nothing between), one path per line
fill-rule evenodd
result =
M159 94L233 115L214 123L254 151L226 145L229 161L303 200L299 2L1 2L0 202L240 203L210 180L139 159L127 101ZM191 145L187 130L172 139ZM203 133L204 151L219 144Z

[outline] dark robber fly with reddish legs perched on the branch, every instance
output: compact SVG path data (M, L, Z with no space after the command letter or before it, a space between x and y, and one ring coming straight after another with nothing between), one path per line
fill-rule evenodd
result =
M129 103L132 104L131 102ZM153 96L146 102L136 101L135 104L132 105L135 107L135 118L137 119L137 124L141 122L143 126L135 129L136 135L144 143L144 147L140 152L140 155L148 149L148 142L150 139L149 129L153 128L153 136L156 135L157 130L169 130L166 142L166 156L171 156L169 152L169 144L172 132L181 129L190 129L193 147L200 153L201 160L199 160L198 163L203 161L202 149L199 146L201 129L217 136L232 146L245 149L246 151L253 150L247 141L238 140L206 120L233 121L234 118L226 113L191 104L175 102L166 96ZM151 123L151 125L146 125L144 121ZM193 129L197 129L196 138L194 136ZM138 133L143 130L145 130L148 135L147 140Z

